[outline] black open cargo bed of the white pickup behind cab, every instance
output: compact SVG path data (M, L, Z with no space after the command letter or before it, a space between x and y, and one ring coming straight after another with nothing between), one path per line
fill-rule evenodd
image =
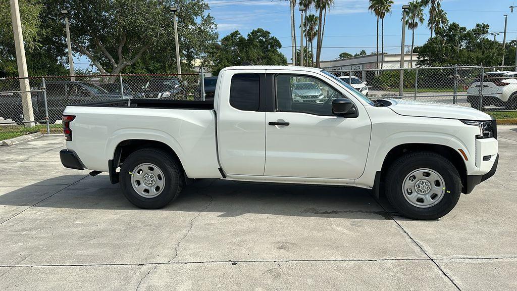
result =
M197 109L212 110L214 101L187 101L187 100L166 100L166 99L118 99L108 101L97 101L71 106L86 107L130 107L130 108L157 108L157 109Z

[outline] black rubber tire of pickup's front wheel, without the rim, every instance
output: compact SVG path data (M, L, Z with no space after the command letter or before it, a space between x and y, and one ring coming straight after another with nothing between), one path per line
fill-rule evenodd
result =
M417 207L410 203L402 190L406 176L422 168L437 172L444 180L442 199L428 208ZM416 220L439 219L456 206L461 195L461 178L458 170L444 156L433 152L409 153L398 158L388 169L385 185L386 197L391 205L400 214Z

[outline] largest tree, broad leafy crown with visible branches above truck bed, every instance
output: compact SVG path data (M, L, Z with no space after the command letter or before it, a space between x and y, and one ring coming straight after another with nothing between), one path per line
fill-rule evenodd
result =
M119 74L149 51L175 60L173 15L178 7L180 57L189 64L217 40L208 5L196 0L68 0L75 51L86 55L101 74ZM161 59L162 61L164 59Z

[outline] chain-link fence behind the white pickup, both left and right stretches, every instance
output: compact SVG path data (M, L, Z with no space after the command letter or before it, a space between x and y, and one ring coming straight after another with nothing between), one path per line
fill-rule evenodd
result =
M517 67L420 67L332 70L364 95L473 107L483 111L517 110ZM401 74L402 73L402 74ZM68 105L127 98L213 100L217 77L200 74L47 76L0 79L0 140L24 133L60 133ZM294 80L309 92L308 80ZM303 101L318 102L311 96ZM311 99L311 100L310 100ZM28 105L31 100L33 117ZM24 111L25 108L25 111ZM26 112L24 114L24 112ZM515 112L510 112L513 117Z

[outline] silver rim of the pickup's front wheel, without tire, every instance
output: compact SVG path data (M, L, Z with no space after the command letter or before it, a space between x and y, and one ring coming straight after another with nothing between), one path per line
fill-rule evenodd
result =
M431 169L421 168L410 172L402 183L402 194L411 205L428 208L444 198L444 178Z

